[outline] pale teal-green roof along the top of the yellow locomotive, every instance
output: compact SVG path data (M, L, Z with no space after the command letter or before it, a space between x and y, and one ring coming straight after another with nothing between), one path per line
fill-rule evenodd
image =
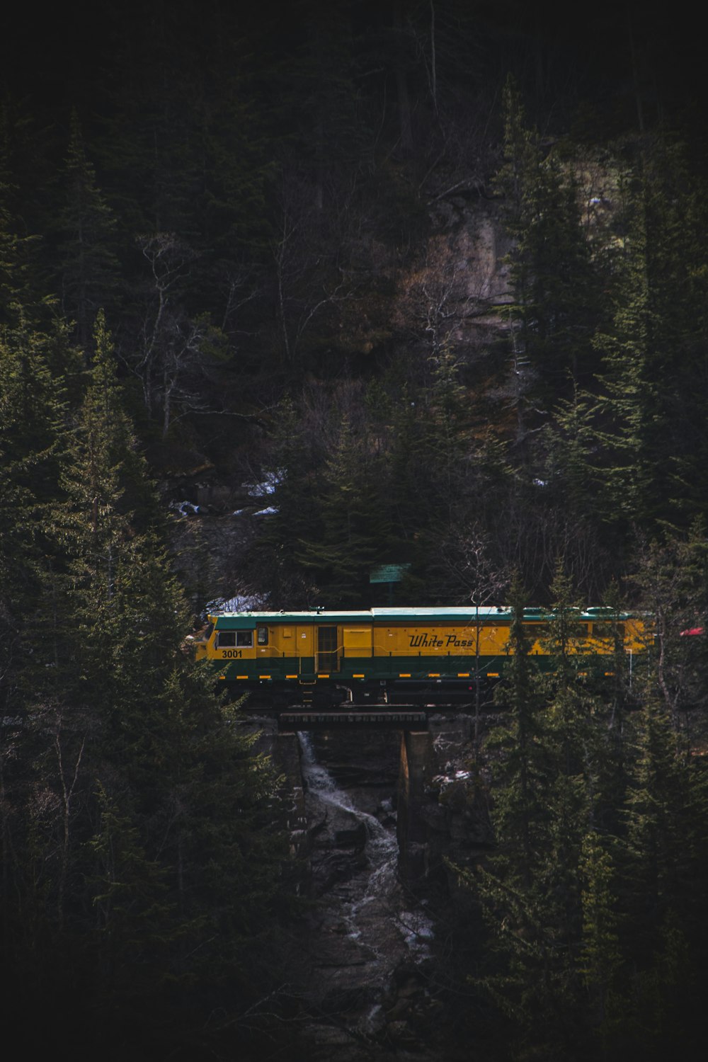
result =
M257 623L366 623L366 622L464 622L471 623L478 619L489 622L497 620L508 622L512 618L513 610L510 605L481 605L476 609L473 605L449 605L431 607L381 607L366 609L351 612L330 611L327 609L308 609L300 612L222 612L211 616L211 620L220 628L252 628ZM523 610L524 619L542 620L552 615L546 609L530 607ZM579 620L602 619L627 619L627 613L619 616L611 609L598 606L589 609L579 609L576 612Z

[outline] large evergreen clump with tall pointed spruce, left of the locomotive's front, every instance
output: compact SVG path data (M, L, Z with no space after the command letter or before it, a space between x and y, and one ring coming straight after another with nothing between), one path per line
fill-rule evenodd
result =
M79 410L42 384L35 349L2 347L5 475L34 523L29 542L3 538L0 569L0 898L14 991L32 984L65 1034L81 1015L84 1039L124 1043L127 1024L137 1046L198 1024L207 983L231 1013L267 994L287 854L270 765L183 651L185 603L102 314L94 339ZM55 399L36 450L19 430L24 362ZM42 462L51 480L28 477Z

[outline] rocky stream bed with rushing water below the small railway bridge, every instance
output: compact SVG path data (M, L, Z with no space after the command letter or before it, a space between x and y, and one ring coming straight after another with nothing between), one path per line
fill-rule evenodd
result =
M413 876L402 866L397 836L401 735L277 739L280 763L295 782L291 832L305 856L304 892L311 904L298 937L297 992L307 1018L293 1060L455 1058L436 976L437 911L419 873L425 868L424 877L435 876L437 869L439 896L443 857L466 859L471 852L473 822L461 777L469 720L456 717L433 730L425 806L416 810L425 840L418 834L409 845L415 850ZM456 809L454 800L439 803L441 791L450 796L455 790ZM455 841L463 837L465 852Z

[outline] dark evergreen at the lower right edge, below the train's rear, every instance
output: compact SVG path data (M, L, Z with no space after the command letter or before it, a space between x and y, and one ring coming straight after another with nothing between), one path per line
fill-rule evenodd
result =
M659 700L647 701L638 724L621 883L622 942L634 971L625 1021L651 1057L670 1044L690 1056L700 1043L708 945L705 772L686 759Z

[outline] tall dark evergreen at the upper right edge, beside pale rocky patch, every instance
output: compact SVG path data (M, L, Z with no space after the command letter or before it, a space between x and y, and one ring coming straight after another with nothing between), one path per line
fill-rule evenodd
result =
M705 272L695 226L705 196L681 154L657 138L623 178L614 315L594 339L604 360L598 438L607 516L644 526L675 523L677 506L703 513L701 433L688 434L684 423L689 410L695 423L701 398L684 372L690 364L700 377L705 349L705 318L695 310ZM689 467L684 478L679 469Z

